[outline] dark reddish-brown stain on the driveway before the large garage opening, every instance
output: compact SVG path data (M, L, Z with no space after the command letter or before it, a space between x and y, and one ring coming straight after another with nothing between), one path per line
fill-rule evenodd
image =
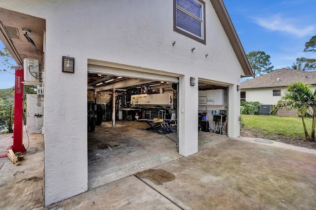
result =
M163 169L149 169L143 172L139 172L135 175L139 179L148 179L157 185L162 185L165 182L175 180L174 174L167 172Z

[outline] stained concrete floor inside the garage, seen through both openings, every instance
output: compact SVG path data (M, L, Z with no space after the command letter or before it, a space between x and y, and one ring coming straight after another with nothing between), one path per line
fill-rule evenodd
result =
M181 157L177 133L159 134L140 121L102 122L88 133L88 188L120 180ZM176 130L176 126L172 127ZM227 136L199 132L199 150ZM216 141L217 140L217 141Z

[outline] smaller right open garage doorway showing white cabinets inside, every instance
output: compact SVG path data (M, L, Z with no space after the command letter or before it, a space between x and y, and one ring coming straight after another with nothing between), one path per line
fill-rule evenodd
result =
M227 137L228 131L228 86L198 81L198 141ZM214 136L210 138L210 136ZM216 137L218 136L218 137Z

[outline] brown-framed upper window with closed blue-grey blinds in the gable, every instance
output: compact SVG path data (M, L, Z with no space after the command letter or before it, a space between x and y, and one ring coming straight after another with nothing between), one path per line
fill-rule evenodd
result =
M205 2L202 0L173 0L173 30L206 44Z

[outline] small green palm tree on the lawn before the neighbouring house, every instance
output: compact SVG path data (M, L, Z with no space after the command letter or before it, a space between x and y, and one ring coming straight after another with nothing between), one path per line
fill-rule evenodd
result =
M306 140L315 141L315 125L316 125L316 90L313 92L310 85L302 82L293 83L287 87L281 100L271 109L272 114L285 107L287 110L297 109L297 113L301 116ZM312 118L312 132L309 135L305 118Z

